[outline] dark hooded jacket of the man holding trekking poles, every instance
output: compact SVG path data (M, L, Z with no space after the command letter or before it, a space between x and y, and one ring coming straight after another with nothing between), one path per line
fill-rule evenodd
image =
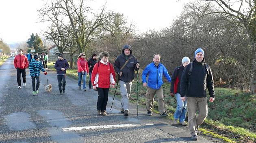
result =
M119 55L117 59L115 59L114 69L117 74L119 74L121 67L126 62L126 57L124 55L125 49L127 48L123 48L122 54ZM134 55L132 55L132 49L131 48L128 48L128 49L130 50L130 56L128 57L128 59L130 59L130 57L131 59L128 61L125 67L121 70L123 74L121 75L121 77L119 77L119 80L123 82L132 82L134 80L134 75L135 75L134 70L136 71L139 70L139 68L137 68L136 66L136 64L139 63L139 61Z

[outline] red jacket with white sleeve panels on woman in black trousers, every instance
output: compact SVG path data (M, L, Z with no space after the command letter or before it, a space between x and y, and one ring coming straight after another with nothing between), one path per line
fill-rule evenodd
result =
M98 66L98 64L100 64ZM91 73L91 83L99 88L110 88L110 85L115 85L115 69L111 63L98 62L94 65ZM111 83L110 83L111 82Z

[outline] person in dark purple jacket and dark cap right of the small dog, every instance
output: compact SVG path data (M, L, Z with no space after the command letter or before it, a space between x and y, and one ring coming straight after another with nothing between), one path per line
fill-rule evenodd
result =
M60 95L65 94L65 86L66 86L66 70L69 68L69 64L66 59L63 59L63 55L59 53L58 60L55 62L54 68L57 72L57 78L59 82L59 91ZM61 83L62 82L62 83ZM61 89L62 86L62 89Z

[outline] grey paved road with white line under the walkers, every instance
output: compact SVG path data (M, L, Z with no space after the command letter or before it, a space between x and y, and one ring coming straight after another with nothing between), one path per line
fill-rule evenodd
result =
M52 93L43 91L46 76L41 73L39 95L32 96L29 71L26 87L17 88L13 58L0 67L0 142L1 143L185 143L189 132L157 114L146 116L143 108L137 116L131 105L130 116L120 114L120 100L108 98L107 116L97 116L98 93L77 89L77 81L67 77L66 94L58 94L57 77L48 72ZM208 143L199 137L197 143Z

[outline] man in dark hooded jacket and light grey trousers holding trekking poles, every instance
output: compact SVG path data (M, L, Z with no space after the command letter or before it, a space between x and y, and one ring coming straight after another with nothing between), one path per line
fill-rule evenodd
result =
M127 60L128 63L121 69ZM132 55L132 47L130 45L124 45L121 55L115 59L114 69L115 72L119 74L119 84L122 95L121 113L124 113L124 116L129 116L129 97L132 81L134 80L135 70L139 70L139 61Z

